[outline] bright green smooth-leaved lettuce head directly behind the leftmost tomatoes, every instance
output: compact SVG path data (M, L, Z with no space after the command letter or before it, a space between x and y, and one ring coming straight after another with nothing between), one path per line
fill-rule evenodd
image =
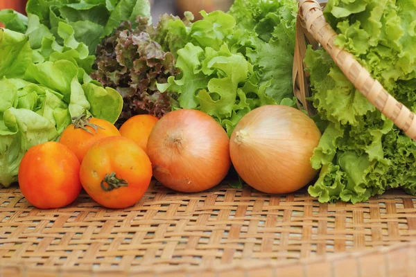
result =
M56 55L60 52L53 52L55 55L49 61L34 63L31 38L0 28L0 52L6 53L0 57L0 184L3 186L17 181L24 153L34 145L58 139L71 118L90 114L114 123L121 112L123 100L119 93L93 82L78 67L76 57L85 57L87 53L82 54L83 45L71 39L71 27L69 33L64 30L59 32L65 39L64 45L74 48L72 57L65 55L67 52L62 53L63 57Z

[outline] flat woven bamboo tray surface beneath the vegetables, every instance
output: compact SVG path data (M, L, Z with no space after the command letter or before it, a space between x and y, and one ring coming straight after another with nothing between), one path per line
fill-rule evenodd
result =
M58 271L63 276L73 270L79 271L77 276L82 272L153 276L178 269L232 267L236 272L250 266L271 274L279 265L292 265L288 262L416 240L415 202L396 190L352 205L320 204L304 190L270 196L249 186L236 189L221 184L187 195L153 183L132 208L107 210L83 193L71 206L44 211L30 206L17 186L3 188L0 276L2 272L29 276L37 271L42 271L39 276L49 276L46 272L55 276ZM404 247L384 251L410 251L416 257L416 244ZM348 259L343 255L343 260ZM390 267L397 265L388 260ZM327 267L329 273L332 267Z

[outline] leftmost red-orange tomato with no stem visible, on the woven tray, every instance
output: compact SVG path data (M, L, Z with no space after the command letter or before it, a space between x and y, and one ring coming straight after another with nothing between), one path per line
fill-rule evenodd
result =
M49 141L24 154L19 166L19 186L37 208L61 208L80 194L80 162L67 146Z

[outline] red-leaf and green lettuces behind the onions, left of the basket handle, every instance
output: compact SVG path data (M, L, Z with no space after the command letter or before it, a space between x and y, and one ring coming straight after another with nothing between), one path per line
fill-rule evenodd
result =
M139 17L98 46L93 78L124 99L121 123L135 114L161 117L175 109L211 115L229 136L248 111L295 105L292 64L297 4L236 0L191 22L164 15L156 27ZM138 82L140 80L140 82Z

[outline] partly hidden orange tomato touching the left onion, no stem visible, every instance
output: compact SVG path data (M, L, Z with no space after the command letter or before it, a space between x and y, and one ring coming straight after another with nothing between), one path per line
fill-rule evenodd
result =
M133 116L125 121L125 123L121 125L119 131L121 136L132 139L144 150L144 152L146 152L146 145L150 132L152 132L152 129L158 120L159 118L150 116L150 114L139 114L138 116Z

